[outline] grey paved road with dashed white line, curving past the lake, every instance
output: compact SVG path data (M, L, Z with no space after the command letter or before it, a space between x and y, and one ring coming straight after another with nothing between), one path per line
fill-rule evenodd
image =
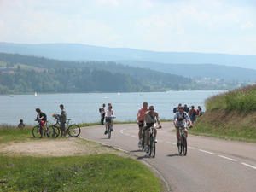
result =
M114 125L111 139L103 126L83 129L81 136L122 148L154 166L173 191L253 192L256 191L256 144L224 141L210 137L188 138L187 156L177 154L172 123L158 131L155 158L137 148L137 125Z

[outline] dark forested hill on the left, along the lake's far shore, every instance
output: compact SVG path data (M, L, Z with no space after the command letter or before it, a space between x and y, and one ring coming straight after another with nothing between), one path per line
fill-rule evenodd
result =
M0 54L0 94L187 90L192 79L104 61Z

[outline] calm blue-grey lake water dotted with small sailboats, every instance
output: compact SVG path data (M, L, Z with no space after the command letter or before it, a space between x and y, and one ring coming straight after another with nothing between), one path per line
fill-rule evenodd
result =
M96 122L100 119L99 108L102 103L113 104L116 120L136 120L137 110L142 102L154 105L160 118L172 119L172 108L178 103L188 106L200 105L204 109L204 102L209 96L221 91L168 91L144 93L83 93L83 94L38 94L0 96L0 124L17 125L24 119L26 125L35 125L35 108L47 114L49 122L53 122L51 115L60 113L59 105L64 104L67 117L73 123Z

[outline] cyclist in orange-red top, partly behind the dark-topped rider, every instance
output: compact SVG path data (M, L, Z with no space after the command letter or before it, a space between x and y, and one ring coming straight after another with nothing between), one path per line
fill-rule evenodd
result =
M145 120L145 113L148 112L148 102L143 102L143 108L140 108L137 112L137 124L139 127L138 131L138 147L142 147L142 139L143 139L143 126L144 126L144 120Z

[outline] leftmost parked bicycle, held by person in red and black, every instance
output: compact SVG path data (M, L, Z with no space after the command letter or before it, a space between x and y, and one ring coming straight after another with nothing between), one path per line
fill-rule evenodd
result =
M47 137L58 137L57 130L55 130L54 127L48 126L47 122L44 125L44 127L42 127L42 125L40 125L40 120L38 120L38 125L35 125L32 128L32 135L35 138L42 138L44 136L47 136Z

